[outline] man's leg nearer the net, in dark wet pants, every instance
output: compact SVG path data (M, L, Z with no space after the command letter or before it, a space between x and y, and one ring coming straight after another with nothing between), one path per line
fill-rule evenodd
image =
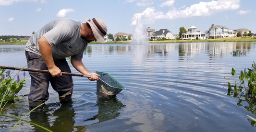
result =
M71 73L71 69L68 65L66 59L54 60L57 67L61 69L62 72ZM62 75L60 77L50 77L50 83L52 88L58 92L59 97L73 92L73 78L69 75ZM72 94L65 97L61 97L60 101L65 102L71 100Z

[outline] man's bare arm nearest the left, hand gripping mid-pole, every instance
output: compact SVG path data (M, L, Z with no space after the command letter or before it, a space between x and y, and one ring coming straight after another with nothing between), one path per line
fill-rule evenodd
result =
M61 76L62 74L61 74L60 68L54 64L54 61L51 55L51 50L52 50L51 46L49 45L48 41L45 39L44 36L42 36L38 40L38 45L39 45L39 52L42 58L44 59L51 76L52 77Z

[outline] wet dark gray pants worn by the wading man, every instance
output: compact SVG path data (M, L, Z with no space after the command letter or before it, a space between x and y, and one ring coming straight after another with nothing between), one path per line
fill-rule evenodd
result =
M28 51L25 51L28 68L48 70L41 55L37 55ZM62 72L71 72L66 59L54 60L56 66L58 66ZM31 109L44 103L49 99L49 83L52 88L58 92L59 97L73 92L73 79L72 76L62 75L60 77L52 77L49 73L29 72L31 76L31 86L28 95L29 107ZM60 100L66 101L71 99L72 94Z

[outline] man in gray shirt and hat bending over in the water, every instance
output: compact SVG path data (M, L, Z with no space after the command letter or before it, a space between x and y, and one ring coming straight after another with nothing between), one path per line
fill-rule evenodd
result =
M34 109L49 99L49 83L59 96L73 92L72 76L61 72L71 72L66 57L71 56L73 67L89 80L98 80L99 75L89 72L82 62L88 43L105 43L107 26L99 18L85 19L85 23L71 19L58 19L49 22L35 33L27 42L25 55L28 68L48 70L49 73L29 72L31 76L29 108ZM63 96L60 101L68 101L72 94ZM37 110L42 110L38 107Z

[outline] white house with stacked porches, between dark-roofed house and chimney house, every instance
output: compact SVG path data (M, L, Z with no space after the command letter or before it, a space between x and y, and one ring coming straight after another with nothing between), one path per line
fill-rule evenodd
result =
M195 26L191 26L188 29L186 29L187 33L183 35L183 39L205 39L206 34L201 33L199 29L197 29Z

